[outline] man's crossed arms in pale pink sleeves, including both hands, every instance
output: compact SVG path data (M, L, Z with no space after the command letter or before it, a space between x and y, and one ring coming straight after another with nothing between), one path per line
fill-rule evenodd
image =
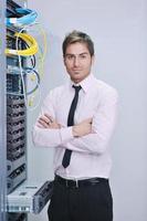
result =
M104 97L95 115L81 123L65 127L55 119L52 101L50 107L43 106L42 114L33 129L35 145L62 147L73 151L103 154L112 137L117 112L117 94L115 91Z

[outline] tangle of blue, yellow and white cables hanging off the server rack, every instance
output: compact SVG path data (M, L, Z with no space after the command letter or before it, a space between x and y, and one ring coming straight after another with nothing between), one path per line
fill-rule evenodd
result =
M24 96L25 101L25 106L29 109L34 109L36 106L40 104L40 98L41 98L41 91L40 91L40 81L41 81L41 75L43 73L43 65L44 65L44 57L46 53L46 36L44 33L44 30L41 28L39 23L35 22L35 19L38 17L38 13L33 10L30 9L22 9L22 8L17 8L15 9L18 15L20 18L7 18L7 25L8 28L14 27L18 29L18 32L15 32L12 35L12 39L15 41L15 46L14 49L6 49L6 54L7 55L18 55L19 60L19 70L20 70L20 75L21 75L21 82L22 82L22 93L19 95ZM39 31L41 31L43 35L43 42L44 42L44 50L42 52L41 46L36 42L36 40L27 33L28 28L32 28L32 24L39 25ZM20 29L21 28L21 29ZM11 36L8 36L11 38ZM38 71L36 71L36 57L35 55L38 54L38 59L40 61L38 62ZM22 64L22 59L21 56L25 56L30 59L31 61L31 66L29 65L29 62L27 62L27 66L23 66ZM28 60L29 61L29 60ZM29 78L27 78L29 77ZM34 82L33 84L30 82L30 88L27 90L27 83L29 81ZM39 99L38 104L33 105L34 97L36 96L35 92L38 90L39 93ZM17 95L17 93L9 93Z

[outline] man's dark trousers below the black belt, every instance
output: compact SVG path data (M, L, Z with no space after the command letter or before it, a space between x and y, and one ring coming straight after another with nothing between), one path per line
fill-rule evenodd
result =
M113 221L108 180L80 188L55 182L48 215L49 221Z

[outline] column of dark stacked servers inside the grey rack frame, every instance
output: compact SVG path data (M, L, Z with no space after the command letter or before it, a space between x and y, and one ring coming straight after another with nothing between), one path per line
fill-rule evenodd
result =
M8 0L7 18L18 18L15 9L25 3ZM7 27L8 49L17 50L14 33L19 31L19 28ZM19 48L23 49L23 43ZM19 60L18 55L7 54L7 194L27 179L27 107L19 62L22 67L25 65L24 57ZM7 220L25 221L27 214L7 212Z

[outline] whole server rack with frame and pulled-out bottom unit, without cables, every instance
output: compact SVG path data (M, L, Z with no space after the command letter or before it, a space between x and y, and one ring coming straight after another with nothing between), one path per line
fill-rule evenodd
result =
M6 53L18 50L15 32L19 27L7 25L7 18L19 18L17 8L27 8L25 0L0 0L0 221L27 221L28 212L39 213L52 193L52 181L27 182L27 103L25 75L21 67L27 57ZM19 50L25 49L23 41Z

